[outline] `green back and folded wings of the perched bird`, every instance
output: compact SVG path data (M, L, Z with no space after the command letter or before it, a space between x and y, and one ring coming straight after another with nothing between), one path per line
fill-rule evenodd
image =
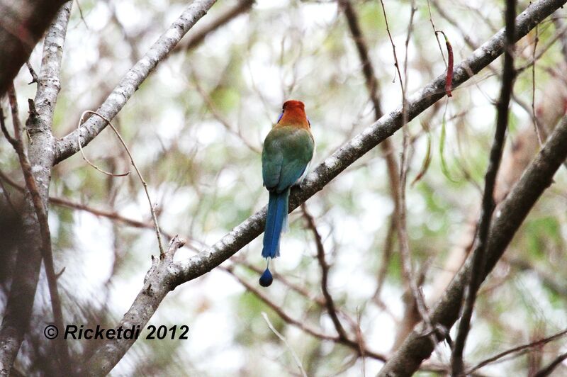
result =
M296 184L313 158L313 136L293 125L274 127L264 140L262 177L270 191L281 192Z

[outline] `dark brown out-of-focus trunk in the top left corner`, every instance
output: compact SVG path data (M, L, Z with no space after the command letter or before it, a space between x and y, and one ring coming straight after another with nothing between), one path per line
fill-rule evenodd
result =
M50 25L64 0L0 0L0 97Z

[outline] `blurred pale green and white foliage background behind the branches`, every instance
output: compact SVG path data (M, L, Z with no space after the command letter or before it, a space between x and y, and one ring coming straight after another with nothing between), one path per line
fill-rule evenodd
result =
M480 45L503 23L500 2L443 4L461 30L444 20L433 4L432 17L436 27L449 36L456 62L471 54L464 35ZM385 1L385 5L398 60L403 62L410 2ZM444 74L427 5L425 1L415 3L417 13L407 51L408 93ZM83 16L74 4L64 49L62 91L55 111L57 137L77 127L82 111L96 109L186 2L87 0L80 1L80 6ZM215 18L225 6L228 4L223 2L213 6L198 26ZM378 1L354 1L354 7L381 86L381 105L388 113L401 103L401 93L381 5ZM555 35L553 23L542 23L538 50L551 43ZM534 38L532 32L518 44L518 67L530 62ZM36 70L40 58L40 48L36 48L30 59ZM553 73L563 59L555 42L537 61L536 103L556 80ZM500 60L491 64L497 73L500 66ZM23 69L16 81L22 118L26 116L26 99L35 91L35 85L28 86L28 81L28 72ZM430 167L407 189L410 249L416 270L429 264L424 286L427 297L439 294L432 291L437 276L451 250L467 234L468 224L478 218L495 123L493 102L499 86L498 77L483 69L456 89L448 103L443 99L409 125L408 181L420 171L427 152L427 136L420 122L427 123L432 136ZM531 106L531 67L517 77L515 94ZM313 125L317 152L312 167L374 121L357 50L344 14L334 1L257 1L251 11L210 33L195 49L173 52L120 111L114 124L142 169L163 229L189 240L179 251L179 258L213 244L267 203L259 150L281 111L281 103L292 98L305 102ZM442 119L446 119L444 159L455 182L442 169ZM531 116L514 103L509 144L526 128L532 128ZM398 158L401 134L393 135L391 141ZM85 153L104 169L130 169L111 130L96 137ZM0 169L22 181L7 142L0 142ZM535 334L543 337L557 332L567 324L567 297L549 288L550 279L564 286L567 271L566 184L566 169L562 169L517 233L505 259L485 282L466 349L466 360L471 364L533 340ZM388 353L393 344L403 315L401 296L405 291L396 239L391 258L383 258L393 214L388 187L386 164L381 153L373 150L308 201L332 266L329 288L335 303L360 326L366 346L383 353ZM137 177L108 178L87 166L79 154L55 167L51 194L150 223ZM283 236L281 258L273 262L274 269L310 297L278 281L262 292L291 317L334 336L325 308L312 299L322 296L313 234L299 210L290 220L291 231ZM60 284L64 287L67 322L113 326L140 289L150 255L157 254L153 230L58 206L50 208L50 224L57 269L65 267ZM260 240L254 240L237 257L262 269L260 250ZM520 268L512 259L527 267ZM235 274L257 286L256 272L239 266L237 261L232 263L237 266ZM387 264L384 286L379 298L373 298L383 263ZM545 276L538 271L544 271ZM37 308L38 315L42 310L49 313L47 290L40 287L39 292L44 305ZM380 361L366 357L363 362L353 349L321 341L288 325L235 278L215 269L176 288L150 321L168 327L189 325L190 339L140 340L111 375L297 373L288 348L264 321L264 312L296 351L309 376L360 376L363 368L372 375L381 367ZM344 323L354 336L352 327ZM92 344L83 342L74 344L73 349L84 351L88 347ZM561 342L548 344L544 361L554 357L560 347ZM26 348L23 352L33 354ZM432 356L438 364L447 364L448 360L446 346ZM526 368L526 356L521 356L482 371L512 375L522 374ZM565 367L561 371L567 373Z

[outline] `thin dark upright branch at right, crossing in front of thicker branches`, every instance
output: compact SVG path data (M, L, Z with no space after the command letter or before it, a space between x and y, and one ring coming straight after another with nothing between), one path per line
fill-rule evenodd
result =
M476 248L473 252L473 262L470 274L468 274L468 283L464 293L465 305L451 353L451 376L461 376L464 372L463 351L468 331L470 330L476 293L478 288L481 286L483 281L482 276L485 271L488 232L490 230L490 220L492 219L495 208L494 187L504 149L505 135L508 125L508 108L510 106L510 98L512 96L513 81L515 77L513 55L515 44L515 16L516 1L507 0L505 11L506 30L504 42L504 69L502 74L500 99L497 103L498 113L496 116L496 130L493 145L490 149L488 169L486 169L485 174L481 219L478 222Z

